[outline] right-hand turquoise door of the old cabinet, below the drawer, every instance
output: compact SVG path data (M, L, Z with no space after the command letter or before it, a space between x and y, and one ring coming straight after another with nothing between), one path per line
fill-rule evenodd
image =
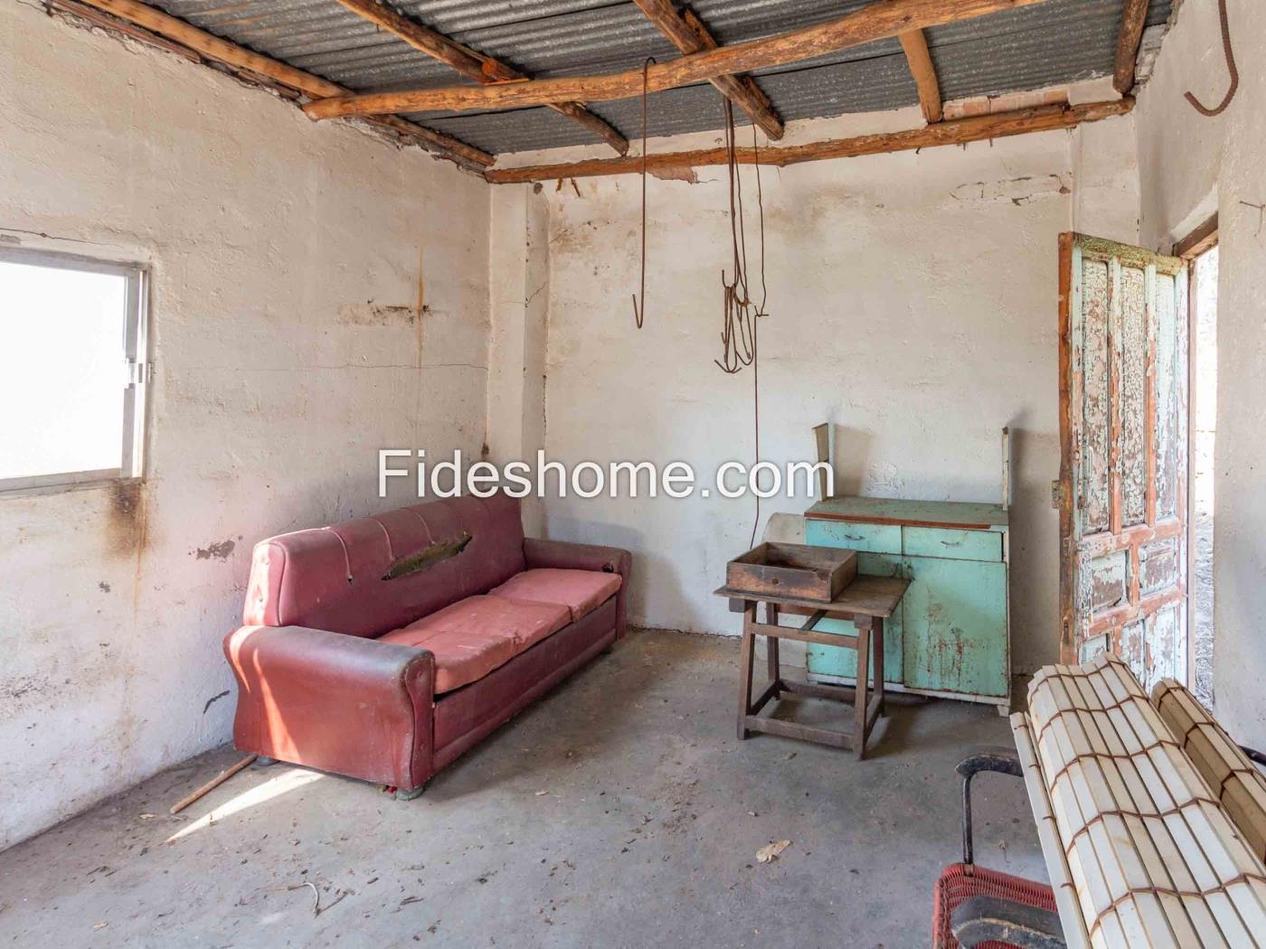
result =
M906 557L905 685L1006 695L1006 564Z

